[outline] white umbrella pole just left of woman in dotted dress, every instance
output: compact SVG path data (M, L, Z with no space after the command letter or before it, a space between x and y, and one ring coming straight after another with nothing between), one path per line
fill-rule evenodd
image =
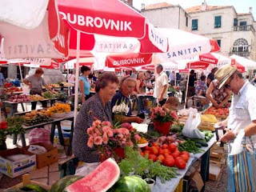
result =
M75 66L75 86L74 86L74 124L76 122L77 114L78 114L78 76L79 76L79 54L80 54L80 34L81 32L77 31L77 64Z

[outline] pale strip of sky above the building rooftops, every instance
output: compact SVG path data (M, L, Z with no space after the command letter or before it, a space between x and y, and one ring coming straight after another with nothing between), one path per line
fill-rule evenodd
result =
M183 9L190 6L199 6L203 0L134 0L134 7L140 10L141 4L150 5L158 2L168 2L173 5L180 5ZM256 0L206 0L209 6L234 6L237 13L249 13L249 7L252 7L254 20L256 21Z

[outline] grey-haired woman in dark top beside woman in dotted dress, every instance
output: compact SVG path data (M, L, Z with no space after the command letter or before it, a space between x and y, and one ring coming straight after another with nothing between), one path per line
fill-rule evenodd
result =
M121 122L143 122L142 118L131 116L131 105L130 105L130 94L133 94L134 88L136 86L136 79L131 78L130 76L126 76L121 79L120 88L117 94L111 100L111 107L115 105L120 105L121 102L125 102L126 105L129 106L129 112L126 116L123 116Z

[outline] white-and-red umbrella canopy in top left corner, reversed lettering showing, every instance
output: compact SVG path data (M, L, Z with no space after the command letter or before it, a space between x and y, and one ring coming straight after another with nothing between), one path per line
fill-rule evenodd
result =
M0 6L2 58L63 58L69 29L54 0L3 0Z

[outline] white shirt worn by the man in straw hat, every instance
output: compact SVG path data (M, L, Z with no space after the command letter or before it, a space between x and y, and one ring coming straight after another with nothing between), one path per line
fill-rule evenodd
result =
M230 106L230 118L228 128L238 133L252 121L256 120L256 87L249 82L245 82L238 94L234 94ZM252 141L256 143L256 135L251 136ZM232 143L234 141L231 141ZM250 144L250 139L246 138L246 143ZM231 148L230 148L231 149Z

